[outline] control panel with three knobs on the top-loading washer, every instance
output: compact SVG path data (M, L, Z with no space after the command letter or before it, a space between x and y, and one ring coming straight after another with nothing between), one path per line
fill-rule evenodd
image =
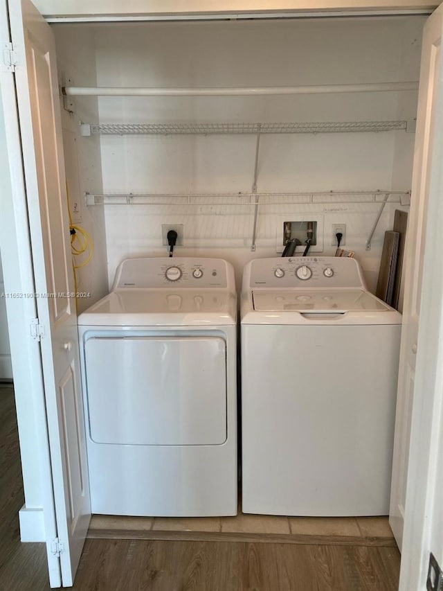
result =
M247 269L250 288L365 288L359 263L354 258L257 258Z

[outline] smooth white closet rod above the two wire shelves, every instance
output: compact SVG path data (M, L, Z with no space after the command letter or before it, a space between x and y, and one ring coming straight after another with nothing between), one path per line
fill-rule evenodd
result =
M334 94L341 92L386 92L417 89L418 82L245 88L98 88L66 86L62 87L62 94L66 96L263 96L282 94Z

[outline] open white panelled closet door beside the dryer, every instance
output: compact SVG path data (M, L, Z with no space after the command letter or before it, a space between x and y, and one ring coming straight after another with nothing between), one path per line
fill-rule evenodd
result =
M29 0L9 2L33 251L62 584L72 585L90 519L80 360L51 28ZM49 297L47 297L47 295Z

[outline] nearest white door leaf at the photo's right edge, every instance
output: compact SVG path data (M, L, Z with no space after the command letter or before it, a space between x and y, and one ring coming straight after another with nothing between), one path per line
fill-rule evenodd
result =
M408 414L411 416L408 474L406 478L403 476L406 497L403 497L400 591L428 588L426 578L431 552L440 566L443 565L442 35L443 5L428 19L424 29L419 134L414 162L413 223L417 224L418 240L410 245L408 254L406 293L408 290L409 293L402 349L406 375L399 389L400 409L402 398L410 400L399 416L400 427L405 428ZM410 236L414 236L414 227ZM402 469L405 471L406 466ZM404 488L401 493L404 495Z

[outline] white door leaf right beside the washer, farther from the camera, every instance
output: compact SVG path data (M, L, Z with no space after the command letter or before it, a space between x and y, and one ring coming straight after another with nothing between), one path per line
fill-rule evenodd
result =
M439 95L443 90L443 80L440 77L442 10L440 6L428 19L424 28L413 185L404 259L405 297L390 500L390 526L399 549L402 546L404 529L411 417L415 398L422 395L418 391L416 364L418 359L423 359L422 355L427 350L426 343L418 342L419 320L423 308L425 249L427 252L431 248L440 248L442 252L443 247L441 238L431 237L426 231L430 202L432 199L440 198L435 181L432 183L435 167L432 168L431 165L436 162L435 156L442 144L442 134L437 133L436 126L438 101L441 100Z

